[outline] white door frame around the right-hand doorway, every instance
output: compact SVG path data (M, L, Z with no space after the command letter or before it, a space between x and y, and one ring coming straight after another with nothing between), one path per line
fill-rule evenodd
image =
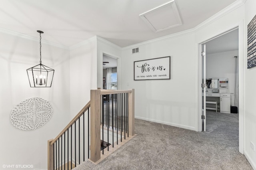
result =
M243 27L243 21L238 23L236 26L213 36L212 38L206 39L201 43L196 43L196 51L197 51L197 61L198 61L198 83L196 85L196 91L198 91L198 108L197 108L197 120L198 123L198 131L202 131L202 87L201 87L201 81L202 81L202 57L201 57L201 51L202 51L202 45L214 38L217 38L219 36L222 36L223 34L226 34L230 31L238 29L238 83L239 83L239 152L244 154L244 69L245 69L245 61L244 61L244 51L245 51L245 40L244 40L244 27ZM207 47L206 47L207 48Z

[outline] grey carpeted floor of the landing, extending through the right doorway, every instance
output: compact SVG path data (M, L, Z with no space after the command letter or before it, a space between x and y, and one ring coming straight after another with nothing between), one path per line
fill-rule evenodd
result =
M252 170L238 151L238 114L207 111L206 132L135 119L137 136L74 170Z

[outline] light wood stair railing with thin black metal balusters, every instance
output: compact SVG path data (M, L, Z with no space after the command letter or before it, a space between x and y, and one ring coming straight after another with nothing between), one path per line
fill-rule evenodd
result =
M78 162L78 164L80 164L80 140L81 140L80 139L80 118L82 118L84 121L86 111L88 111L88 158L90 157L90 160L92 162L99 162L101 160L101 154L104 153L103 150L102 150L102 153L100 151L101 125L102 125L102 134L104 133L104 130L103 130L104 123L101 123L101 115L104 115L104 113L101 112L101 108L103 107L101 104L104 104L104 96L106 96L106 95L116 95L117 96L117 94L119 94L119 95L126 94L126 97L127 97L126 101L128 103L126 130L128 131L128 135L130 135L130 136L135 135L134 134L134 89L131 89L131 90L100 90L100 89L91 90L90 91L90 101L84 106L84 108L76 115L76 117L74 117L72 119L72 121L70 121L70 123L68 123L68 125L60 132L60 134L58 134L58 136L56 136L56 138L48 140L48 170L58 169L59 167L61 167L63 165L62 155L64 155L64 164L66 164L65 155L67 155L68 161L71 161L71 163L72 163L72 161L73 161L72 156L77 156L76 149L74 151L75 154L73 154L73 153L66 154L65 150L63 153L62 150L60 151L60 148L61 149L63 148L63 146L62 146L63 142L64 142L64 149L66 148L65 142L66 141L71 142L71 144L68 143L67 145L71 146L70 152L72 152L72 139L73 138L75 140L75 142L73 142L73 144L75 143L74 147L76 147L76 143L77 143L76 138L78 138L78 141L79 141L79 154L78 154L79 162ZM112 98L112 101L113 101L113 98ZM90 113L89 113L89 108L90 108ZM89 120L89 115L90 115L90 120ZM102 117L102 119L103 119L103 117ZM76 124L77 121L78 121L78 124ZM83 123L83 125L84 125L84 123ZM89 127L89 125L90 125L90 127ZM78 137L76 136L76 127L77 126L79 127ZM72 127L74 127L73 130L72 130ZM71 128L71 130L70 130L70 128ZM117 127L115 127L115 128L117 128ZM85 131L84 129L82 129L83 133ZM89 131L89 129L90 129L90 131ZM114 129L112 129L112 130L114 132ZM124 130L124 131L126 131L126 130ZM69 139L69 137L68 137L68 139L65 138L65 135L66 135L66 133L68 134L68 132L71 133L71 137L70 137L71 140ZM73 136L72 136L72 132L74 133ZM122 130L120 132L121 132L121 141L122 141L122 133L124 133L124 135L125 135L126 132L122 132ZM118 134L117 129L116 129L116 133ZM89 135L90 135L90 142L89 142ZM113 135L114 135L114 133L113 133ZM62 136L64 136L64 141L62 141ZM103 135L102 135L102 138L103 138ZM124 138L125 138L125 136L124 136ZM60 141L61 141L61 144L60 144ZM58 142L58 144L57 144L57 142ZM89 143L90 143L90 148L89 148ZM57 152L57 146L58 146L58 152ZM114 144L113 144L113 147L114 147ZM85 150L85 146L83 146L81 149ZM89 156L89 150L90 150L90 156ZM68 151L69 151L69 149L68 149ZM85 151L83 151L83 153L84 152ZM69 154L71 154L70 160L69 160ZM58 155L58 163L57 163L57 155ZM54 160L55 160L55 162L54 162ZM84 156L84 160L85 160L85 156ZM67 164L68 164L68 161L67 161ZM73 163L76 166L76 158ZM68 164L68 167L69 167L69 164ZM71 165L70 165L70 169L72 169Z

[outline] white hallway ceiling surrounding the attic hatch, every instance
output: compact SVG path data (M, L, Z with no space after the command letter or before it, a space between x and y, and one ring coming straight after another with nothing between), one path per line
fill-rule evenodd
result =
M139 16L171 0L0 0L0 32L70 47L100 36L120 47L192 29L236 0L175 0L181 26L154 32ZM168 21L171 17L159 18ZM157 24L157 23L156 23Z

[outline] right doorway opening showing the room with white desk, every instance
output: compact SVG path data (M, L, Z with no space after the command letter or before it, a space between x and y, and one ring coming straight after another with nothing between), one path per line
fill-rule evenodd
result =
M202 119L201 130L211 132L216 127L230 123L236 119L235 128L239 131L239 85L238 85L238 28L216 36L201 44L201 76L202 77ZM203 53L205 52L205 57ZM233 109L231 109L232 107ZM234 109L236 108L236 109ZM206 124L207 118L207 124ZM226 120L226 123L225 123ZM232 124L228 126L233 126ZM224 128L226 134L232 133ZM238 135L238 134L237 134ZM237 139L240 141L239 139ZM240 149L239 149L240 150Z

